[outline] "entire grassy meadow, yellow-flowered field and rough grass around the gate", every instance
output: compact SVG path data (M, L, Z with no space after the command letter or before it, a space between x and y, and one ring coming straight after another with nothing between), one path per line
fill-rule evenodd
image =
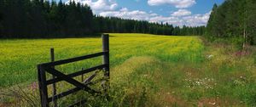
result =
M100 52L102 40L97 37L0 40L0 87L35 82L36 65L49 62L49 48L55 48L56 59L67 59ZM247 54L236 55L233 46L205 45L200 37L110 34L112 99L92 97L87 105L255 106L256 53L255 48L248 50ZM71 73L101 61L101 58L89 59L57 69ZM30 90L26 89L28 93ZM59 104L73 102L81 94L86 93ZM0 99L0 105L1 101L8 102L3 100L11 99Z

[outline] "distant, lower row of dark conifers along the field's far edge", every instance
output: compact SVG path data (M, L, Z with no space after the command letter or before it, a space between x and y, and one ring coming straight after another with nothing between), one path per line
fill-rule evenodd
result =
M155 35L189 36L202 35L205 26L183 27L168 23L149 23L145 20L125 20L115 17L95 17L96 32L148 33Z

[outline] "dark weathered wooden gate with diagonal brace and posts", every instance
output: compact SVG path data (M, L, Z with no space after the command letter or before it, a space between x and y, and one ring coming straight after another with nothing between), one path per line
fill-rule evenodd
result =
M72 74L65 75L61 71L55 69L56 65L65 65L65 64L77 62L80 60L91 59L91 58L96 58L96 57L100 57L100 56L102 56L102 65L96 65L96 66L91 67L86 70L80 70L80 71L74 72ZM76 58L72 58L72 59L63 59L63 60L55 61L54 50L51 49L51 58L52 58L51 59L52 62L38 65L38 83L39 83L39 91L40 91L40 99L41 99L42 107L49 107L50 102L54 102L53 105L57 106L57 102L56 102L57 99L61 99L69 94L76 93L80 90L91 93L93 95L101 94L102 92L95 90L88 86L88 85L94 85L94 84L96 84L96 82L102 82L102 86L103 86L102 88L104 88L104 90L109 88L109 85L108 85L108 80L109 80L109 36L108 35L105 35L105 34L102 35L102 52L101 53L93 53L93 54L84 55L84 56L80 56L80 57L76 57ZM76 76L82 76L82 78L83 78L84 74L92 72L92 71L96 71L96 70L104 71L104 77L102 77L101 79L98 79L96 82L91 82L91 80L96 76L96 73L93 74L92 76L89 76L88 78L86 78L84 82L79 82L79 81L73 79L73 77L76 77ZM53 78L47 80L46 73L49 73L50 75L52 75ZM56 93L55 83L62 82L62 81L68 82L75 87L66 92ZM48 93L49 85L53 85L53 95L51 97L49 97L49 93ZM75 104L71 104L69 106L76 106L76 105L81 105L84 103L86 103L86 99L83 99L83 100L81 100Z

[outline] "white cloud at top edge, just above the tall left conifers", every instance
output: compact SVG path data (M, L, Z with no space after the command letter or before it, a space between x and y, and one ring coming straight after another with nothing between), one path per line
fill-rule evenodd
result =
M115 10L118 8L118 3L113 0L68 0L66 3L70 3L70 1L87 4L96 13L101 11Z

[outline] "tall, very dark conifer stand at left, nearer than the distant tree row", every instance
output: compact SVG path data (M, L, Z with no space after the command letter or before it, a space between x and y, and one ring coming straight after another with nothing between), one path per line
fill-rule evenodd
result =
M0 0L1 37L75 37L92 33L90 7L44 0Z

